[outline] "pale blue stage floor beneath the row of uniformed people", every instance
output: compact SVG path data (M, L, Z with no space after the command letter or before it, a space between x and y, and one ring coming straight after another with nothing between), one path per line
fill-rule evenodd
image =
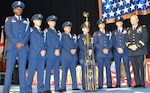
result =
M80 87L79 87L80 88ZM0 93L2 93L3 86L0 86ZM52 87L52 92L54 92L54 88ZM19 93L19 86L12 85L10 89L10 93ZM37 93L36 86L33 86L33 93ZM127 88L127 86L122 86L121 88L103 88L101 90L97 90L96 92L84 92L83 90L72 91L70 86L67 86L67 91L62 93L150 93L150 86L146 88Z

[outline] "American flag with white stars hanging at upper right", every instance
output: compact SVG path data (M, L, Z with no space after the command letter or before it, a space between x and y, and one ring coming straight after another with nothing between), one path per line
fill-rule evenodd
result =
M146 15L150 13L150 0L98 0L99 18L114 22L114 18L129 18L132 14Z

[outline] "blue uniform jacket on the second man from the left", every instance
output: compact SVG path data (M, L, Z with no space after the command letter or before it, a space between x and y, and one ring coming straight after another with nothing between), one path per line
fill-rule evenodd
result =
M41 50L46 49L47 44L44 42L44 33L33 27L30 34L30 58L39 56Z

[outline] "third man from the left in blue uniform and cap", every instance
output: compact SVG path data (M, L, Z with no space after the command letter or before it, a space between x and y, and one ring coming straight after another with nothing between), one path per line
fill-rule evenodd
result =
M52 69L54 69L55 92L61 92L59 87L59 66L60 66L60 49L61 49L61 32L56 31L55 25L57 17L51 15L46 19L49 28L45 29L47 36L47 56L46 56L46 93L51 93L50 80Z

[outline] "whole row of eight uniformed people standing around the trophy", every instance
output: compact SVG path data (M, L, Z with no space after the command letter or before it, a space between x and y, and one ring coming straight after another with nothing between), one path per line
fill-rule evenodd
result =
M84 40L89 28L85 23L81 25L83 34L78 37L71 34L72 23L66 21L62 24L63 33L55 29L57 17L50 15L46 22L48 28L41 30L43 21L42 14L34 14L31 18L34 26L30 28L28 18L22 18L25 5L21 1L12 3L14 16L6 18L5 33L8 37L7 43L7 68L3 93L9 93L11 78L18 57L20 93L32 93L32 81L37 71L37 92L51 93L51 73L54 70L55 92L66 91L66 79L68 69L71 71L72 90L80 90L76 80L76 64L78 61L77 51L79 50L79 62L82 67L82 89L85 89L84 75ZM147 29L139 25L137 15L130 18L131 27L123 28L123 18L115 19L117 29L110 32L105 30L106 21L97 21L99 30L93 35L95 60L98 67L98 89L103 88L103 67L106 67L107 88L113 88L110 71L111 59L115 60L116 86L120 83L120 64L123 61L127 76L128 87L132 86L130 66L131 61L136 84L134 88L145 88L144 80L144 58L147 54ZM29 44L29 45L28 45ZM28 74L26 76L26 62L28 63ZM45 68L46 64L46 68ZM59 66L62 66L62 80L60 84ZM44 69L46 76L44 77ZM44 79L45 78L45 79ZM45 80L45 82L44 82Z

